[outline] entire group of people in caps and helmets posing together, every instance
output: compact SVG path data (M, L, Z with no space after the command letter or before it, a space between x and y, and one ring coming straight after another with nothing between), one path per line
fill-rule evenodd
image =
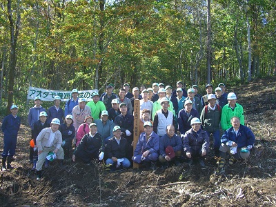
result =
M64 157L71 159L72 144L75 145L72 161L91 164L93 160L104 160L111 170L128 168L132 161L152 169L157 168L158 162L167 168L183 160L190 164L197 160L205 166L211 135L219 168L226 164L226 152L230 154L229 164L250 155L255 137L244 126L244 110L235 93L227 94L224 83L219 83L214 94L213 86L207 84L203 96L198 94L197 85L186 91L181 81L175 90L163 83L153 83L152 88L135 87L132 93L125 83L118 95L113 90L114 85L109 84L106 92L101 96L93 93L92 101L86 103L86 99L79 98L78 90L73 89L64 111L59 96L55 96L54 106L47 112L41 106L41 98L34 98L28 123L32 130L30 162L37 179L41 179L43 164L47 168L49 159L57 159L59 166L63 166ZM133 149L135 99L140 100L140 136ZM8 168L12 168L14 137L20 126L18 107L12 105L10 110L12 114L2 124L2 170L6 169L7 157Z

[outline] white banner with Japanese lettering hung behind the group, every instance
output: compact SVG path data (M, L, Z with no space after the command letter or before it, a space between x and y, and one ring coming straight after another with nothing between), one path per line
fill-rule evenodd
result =
M85 98L86 101L91 101L92 95L95 92L98 92L98 90L79 90L79 98ZM61 101L68 101L71 98L71 90L48 90L29 87L27 99L41 97L41 101L53 101L55 96L60 96Z

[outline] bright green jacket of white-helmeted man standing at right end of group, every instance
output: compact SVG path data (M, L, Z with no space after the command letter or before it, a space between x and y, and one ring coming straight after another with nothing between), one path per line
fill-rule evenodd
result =
M220 124L223 130L228 130L228 128L232 127L230 123L232 117L239 117L241 124L244 125L244 108L239 103L236 103L234 110L230 108L229 103L222 108Z

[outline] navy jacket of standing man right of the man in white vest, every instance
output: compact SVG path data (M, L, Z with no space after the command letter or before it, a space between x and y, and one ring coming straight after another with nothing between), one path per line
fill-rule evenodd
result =
M178 113L178 119L177 119L177 123L178 123L178 130L181 133L181 135L183 135L186 131L188 131L191 127L190 127L190 121L194 118L197 117L199 118L199 113L197 112L197 110L193 109L190 111L190 116L188 117L188 115L186 114L186 108L181 109Z

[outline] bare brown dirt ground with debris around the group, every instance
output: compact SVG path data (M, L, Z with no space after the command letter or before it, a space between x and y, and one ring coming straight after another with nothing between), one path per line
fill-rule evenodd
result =
M256 141L250 159L221 175L211 152L206 168L183 163L154 172L106 172L70 160L61 169L53 161L36 181L28 163L30 129L22 125L15 168L0 172L0 206L276 206L275 83L272 77L228 88L244 106Z

